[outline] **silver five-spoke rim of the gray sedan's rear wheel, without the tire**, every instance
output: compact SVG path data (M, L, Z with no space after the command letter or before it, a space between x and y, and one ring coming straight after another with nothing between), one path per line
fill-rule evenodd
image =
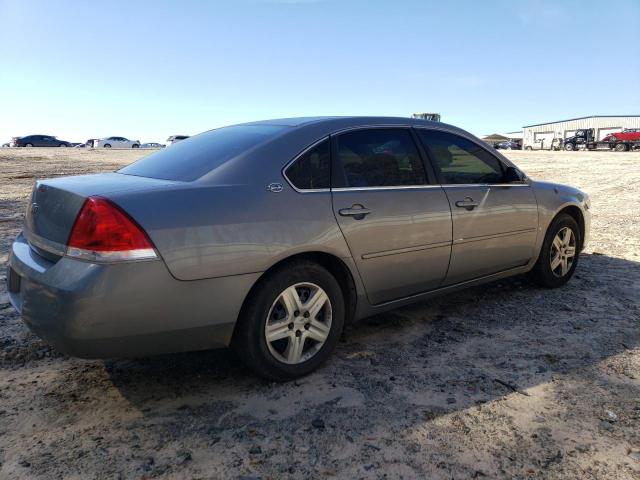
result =
M306 362L331 332L332 308L327 293L314 283L297 283L278 295L269 309L264 336L269 352L287 364Z

